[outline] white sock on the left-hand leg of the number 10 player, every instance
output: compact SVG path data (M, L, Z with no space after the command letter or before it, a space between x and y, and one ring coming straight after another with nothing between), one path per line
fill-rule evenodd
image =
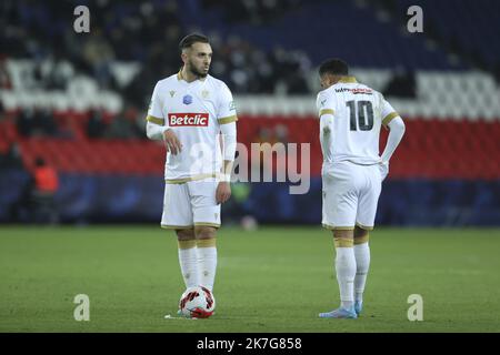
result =
M356 257L354 248L337 247L336 272L340 288L340 302L343 308L354 304Z

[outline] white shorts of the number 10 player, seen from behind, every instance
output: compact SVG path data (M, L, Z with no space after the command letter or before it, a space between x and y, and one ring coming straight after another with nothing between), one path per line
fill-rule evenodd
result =
M322 224L329 230L372 230L382 189L380 169L348 161L323 169Z

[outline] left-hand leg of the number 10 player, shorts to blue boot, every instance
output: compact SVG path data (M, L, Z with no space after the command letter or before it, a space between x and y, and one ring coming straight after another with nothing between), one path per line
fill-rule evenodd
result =
M334 172L323 176L323 226L333 231L336 246L334 268L340 291L340 307L321 313L320 317L356 318L354 276L356 257L353 230L358 205L357 179L352 166L339 164Z

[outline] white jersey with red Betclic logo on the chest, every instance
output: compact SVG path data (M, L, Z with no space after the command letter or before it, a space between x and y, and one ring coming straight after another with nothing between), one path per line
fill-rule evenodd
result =
M182 150L167 153L167 182L184 182L220 172L220 124L237 121L231 91L211 75L187 82L181 72L154 87L148 121L169 126Z

